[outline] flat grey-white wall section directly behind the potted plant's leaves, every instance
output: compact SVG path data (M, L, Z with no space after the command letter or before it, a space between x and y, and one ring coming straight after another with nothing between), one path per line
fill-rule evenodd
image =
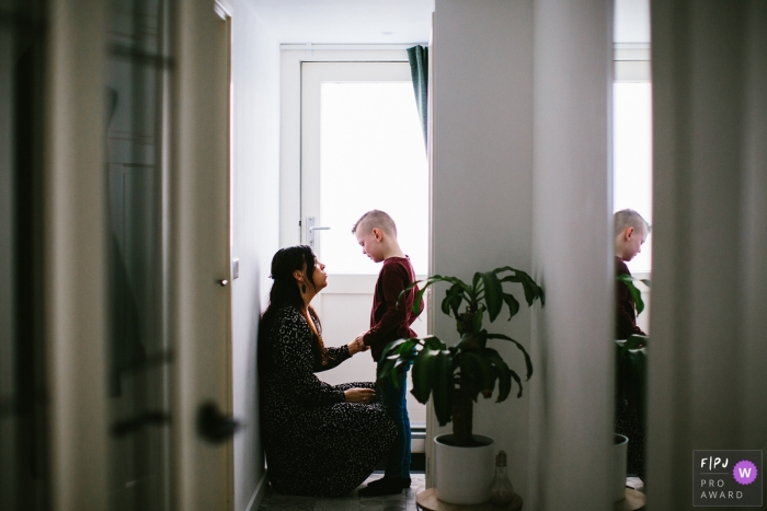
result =
M437 0L432 66L432 272L471 279L474 271L500 266L530 271L533 1ZM439 288L434 295L443 294ZM520 290L515 294L524 303ZM488 329L529 347L529 310L523 307L512 323L502 313ZM434 333L457 341L455 321L440 312ZM524 375L519 351L495 345ZM506 451L510 477L524 496L529 392L542 384L535 373L522 398L515 393L501 404L495 396L480 398L474 407L474 433L493 437ZM449 431L448 425L436 433Z

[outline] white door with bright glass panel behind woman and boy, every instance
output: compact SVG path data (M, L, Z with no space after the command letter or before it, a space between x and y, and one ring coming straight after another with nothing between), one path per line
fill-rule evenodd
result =
M351 232L363 213L391 214L416 274L423 278L428 271L426 151L407 61L304 62L301 83L305 243L308 218L316 227L330 227L314 231L314 252L327 265L329 284L312 304L325 344L341 346L369 328L380 270ZM426 314L413 329L426 335ZM374 381L376 365L364 353L318 376L332 384ZM408 399L411 423L425 426L425 406L410 394Z

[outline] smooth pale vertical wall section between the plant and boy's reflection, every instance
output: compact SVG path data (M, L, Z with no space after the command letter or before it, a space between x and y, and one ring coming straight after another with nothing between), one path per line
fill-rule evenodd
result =
M610 509L611 0L536 0L531 509Z

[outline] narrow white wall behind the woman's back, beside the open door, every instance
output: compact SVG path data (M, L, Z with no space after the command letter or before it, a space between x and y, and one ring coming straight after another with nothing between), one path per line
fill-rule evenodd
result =
M264 475L256 334L279 242L279 45L251 2L232 3L232 258L240 259L232 281L232 400L234 417L245 423L234 435L233 462L234 510L242 511Z

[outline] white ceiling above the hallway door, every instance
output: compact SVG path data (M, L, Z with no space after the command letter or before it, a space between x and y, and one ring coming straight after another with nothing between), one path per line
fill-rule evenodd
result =
M251 0L279 43L428 43L434 0ZM390 34L385 34L390 33Z

